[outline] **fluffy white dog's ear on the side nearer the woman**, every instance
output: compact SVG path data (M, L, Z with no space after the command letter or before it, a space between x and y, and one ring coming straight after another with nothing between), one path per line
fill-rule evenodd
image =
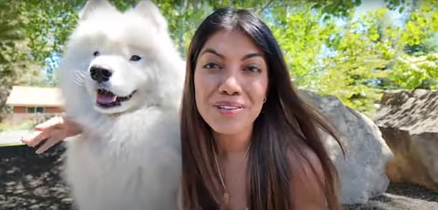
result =
M143 17L153 21L153 23L155 23L155 25L157 26L160 32L167 30L166 19L161 14L158 6L155 6L155 4L152 1L149 0L140 1L139 3L137 3L137 6L135 6L134 12L137 12Z

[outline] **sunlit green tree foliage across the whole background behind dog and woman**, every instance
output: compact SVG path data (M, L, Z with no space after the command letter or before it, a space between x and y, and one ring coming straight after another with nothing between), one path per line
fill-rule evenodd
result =
M126 10L138 1L111 2ZM213 10L233 6L257 12L274 32L296 85L337 96L355 109L372 112L384 90L438 88L438 1L384 1L387 8L360 17L354 15L360 0L155 3L166 17L182 56L200 21ZM19 65L32 63L44 66L45 84L55 85L57 59L84 3L0 1L0 74L31 72ZM390 10L403 12L406 21L388 24ZM17 81L13 75L1 79Z

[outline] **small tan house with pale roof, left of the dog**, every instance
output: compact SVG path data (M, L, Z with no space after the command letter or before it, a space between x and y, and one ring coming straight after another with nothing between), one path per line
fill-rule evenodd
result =
M36 117L56 116L64 112L61 90L54 87L14 86L6 105L12 107L8 121L14 125Z

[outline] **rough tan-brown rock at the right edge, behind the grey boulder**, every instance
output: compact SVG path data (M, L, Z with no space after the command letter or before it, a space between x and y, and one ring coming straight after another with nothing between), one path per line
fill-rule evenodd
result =
M438 191L438 92L386 92L375 122L394 153L387 174Z

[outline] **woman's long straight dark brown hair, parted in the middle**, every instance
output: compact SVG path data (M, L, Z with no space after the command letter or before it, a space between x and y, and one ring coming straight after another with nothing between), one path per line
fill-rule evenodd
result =
M339 143L336 129L298 95L283 54L267 25L247 10L221 8L200 24L187 53L181 108L184 210L218 209L222 198L210 145L211 130L196 109L193 83L200 50L207 39L219 30L238 30L247 34L264 52L267 61L267 101L263 105L263 113L254 122L248 160L249 209L293 209L291 186L294 185L294 174L291 173L289 156L305 157L302 145L314 151L321 161L324 180L319 184L329 209L338 209L336 169L323 147L320 134L322 130ZM299 161L293 166L302 167L309 161Z

